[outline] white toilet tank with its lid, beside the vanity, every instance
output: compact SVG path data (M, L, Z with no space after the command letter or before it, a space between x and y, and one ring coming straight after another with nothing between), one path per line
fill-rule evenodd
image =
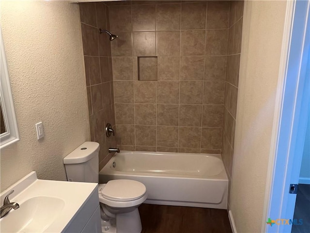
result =
M63 158L67 180L75 182L98 183L99 181L99 143L84 142Z

